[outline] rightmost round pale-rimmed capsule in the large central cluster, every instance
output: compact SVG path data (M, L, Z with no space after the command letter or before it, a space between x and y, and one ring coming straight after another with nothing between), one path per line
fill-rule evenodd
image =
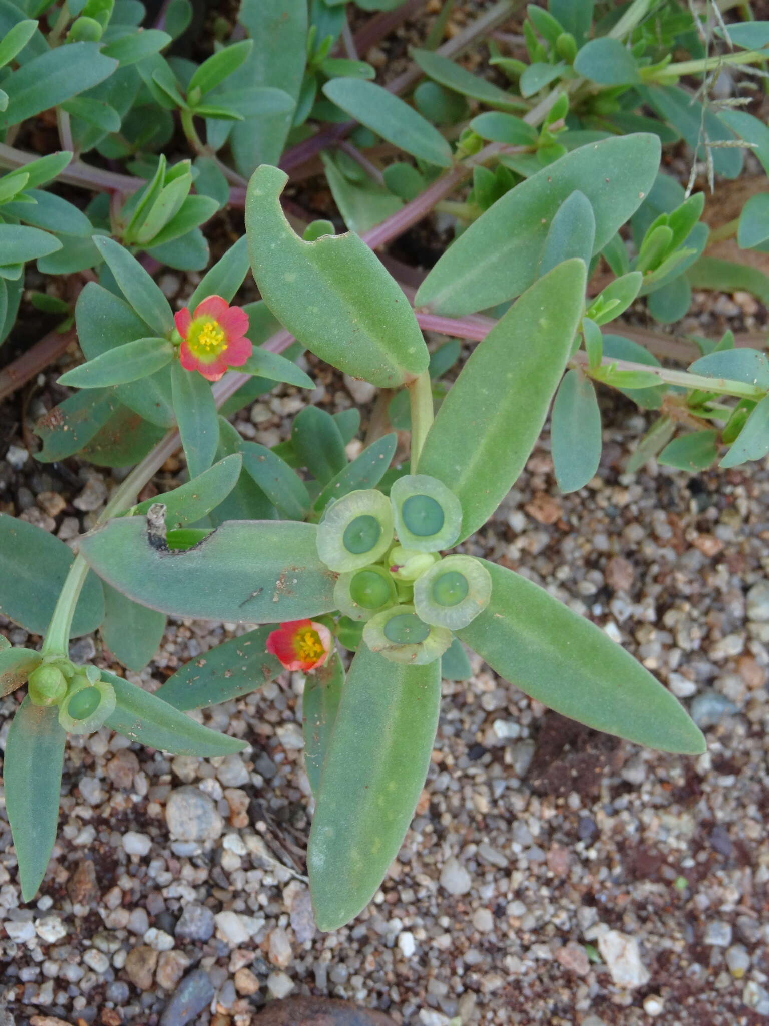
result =
M491 575L473 556L446 556L414 582L414 608L421 620L458 631L489 604Z

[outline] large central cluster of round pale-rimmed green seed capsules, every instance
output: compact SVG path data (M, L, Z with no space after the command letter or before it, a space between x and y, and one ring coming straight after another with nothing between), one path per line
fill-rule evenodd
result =
M440 555L459 538L461 520L456 496L426 474L399 478L390 498L351 491L326 509L318 553L339 575L336 607L365 622L372 652L396 663L432 663L451 644L451 632L486 608L491 576L483 563Z

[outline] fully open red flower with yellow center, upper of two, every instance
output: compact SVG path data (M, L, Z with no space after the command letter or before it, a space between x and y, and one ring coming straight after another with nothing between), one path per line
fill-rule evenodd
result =
M186 370L198 370L209 382L217 382L228 367L241 367L253 347L248 339L248 314L231 307L220 295L209 295L195 313L179 310L173 315L181 336L179 360Z

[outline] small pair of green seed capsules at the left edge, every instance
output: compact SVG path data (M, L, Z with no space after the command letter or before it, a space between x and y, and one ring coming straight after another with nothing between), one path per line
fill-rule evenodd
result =
M58 722L69 734L92 734L115 711L115 688L99 680L98 669L60 656L44 657L28 686L33 705L58 706Z

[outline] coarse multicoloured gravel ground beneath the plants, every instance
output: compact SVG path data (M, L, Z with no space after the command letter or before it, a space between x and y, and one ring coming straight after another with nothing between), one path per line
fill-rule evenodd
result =
M309 369L315 401L352 403L327 367L310 358ZM599 475L559 496L545 432L468 551L625 644L705 728L707 754L579 727L479 661L472 681L444 682L430 777L380 892L322 935L305 877L300 675L201 714L248 742L242 756L166 758L105 731L73 738L59 840L29 907L0 820L3 1000L17 1024L245 1026L270 998L302 993L415 1026L769 1021L769 474L624 475L647 419L603 399ZM238 427L275 444L302 401L283 387ZM0 507L64 538L87 527L110 472L70 461L70 487L25 455L11 439ZM169 461L158 488L179 468ZM172 622L155 662L127 676L154 689L232 633ZM97 638L73 656L115 669ZM16 701L0 703L0 747Z

